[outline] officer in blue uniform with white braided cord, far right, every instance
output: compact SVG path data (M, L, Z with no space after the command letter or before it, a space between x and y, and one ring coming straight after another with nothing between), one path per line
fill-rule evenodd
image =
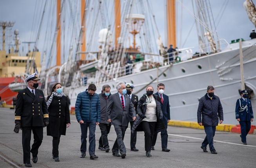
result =
M243 145L247 145L246 136L251 129L251 122L253 121L252 103L247 99L247 90L241 91L241 99L236 101L236 120L239 121L241 126L241 141Z

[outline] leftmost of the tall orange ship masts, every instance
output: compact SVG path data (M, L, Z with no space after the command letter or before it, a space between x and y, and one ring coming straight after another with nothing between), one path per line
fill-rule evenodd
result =
M60 15L61 15L61 6L60 1L57 0L57 28L58 28L58 34L57 34L57 44L56 44L56 66L61 65L61 43L60 43L60 35L61 35L61 21L60 21Z

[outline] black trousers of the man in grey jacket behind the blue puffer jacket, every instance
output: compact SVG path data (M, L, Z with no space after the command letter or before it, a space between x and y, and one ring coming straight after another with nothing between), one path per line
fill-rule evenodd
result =
M99 147L109 147L109 141L107 135L109 134L111 125L110 124L99 124L101 136L99 140Z

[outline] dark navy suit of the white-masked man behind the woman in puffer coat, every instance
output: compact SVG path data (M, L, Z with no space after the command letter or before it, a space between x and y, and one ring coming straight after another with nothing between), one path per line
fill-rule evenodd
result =
M158 92L155 93L155 95L159 95ZM168 133L167 133L167 120L170 120L170 106L169 106L169 97L166 94L163 95L163 103L160 101L161 109L163 113L163 122L165 124L165 130L161 131L161 141L162 141L162 149L167 148L167 142L168 142ZM157 138L157 132L154 133L153 140L152 140L152 146L156 145L156 138Z

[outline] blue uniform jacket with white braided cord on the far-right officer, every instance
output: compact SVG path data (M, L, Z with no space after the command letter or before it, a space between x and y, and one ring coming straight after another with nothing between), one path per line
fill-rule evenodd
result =
M236 101L236 119L240 118L240 121L251 121L253 118L252 103L250 99L243 100L237 99Z

